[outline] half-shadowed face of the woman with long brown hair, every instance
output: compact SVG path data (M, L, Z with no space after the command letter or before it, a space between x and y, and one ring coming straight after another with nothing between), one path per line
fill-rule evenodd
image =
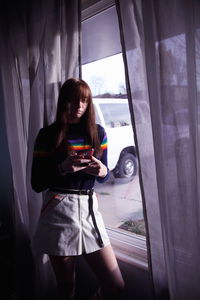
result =
M80 122L81 117L88 107L88 98L76 99L68 103L68 117L70 123Z

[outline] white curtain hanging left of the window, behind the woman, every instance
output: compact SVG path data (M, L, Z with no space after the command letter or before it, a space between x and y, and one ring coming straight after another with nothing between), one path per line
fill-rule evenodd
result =
M35 264L30 249L41 206L41 195L30 186L30 170L35 137L54 120L60 85L79 77L79 6L78 0L8 0L1 5L1 97L12 165L19 299L44 299L50 287L48 262Z

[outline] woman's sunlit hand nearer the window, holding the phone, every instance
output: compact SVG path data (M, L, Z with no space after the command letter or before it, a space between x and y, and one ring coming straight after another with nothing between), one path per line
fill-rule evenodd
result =
M105 177L108 173L106 166L94 156L92 156L91 162L88 164L87 167L84 168L83 171L87 174L99 177Z

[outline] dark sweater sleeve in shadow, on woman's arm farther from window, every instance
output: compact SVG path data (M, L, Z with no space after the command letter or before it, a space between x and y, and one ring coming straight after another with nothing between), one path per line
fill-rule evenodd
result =
M52 183L53 176L58 174L54 152L44 128L40 129L33 152L31 185L35 192L46 190Z

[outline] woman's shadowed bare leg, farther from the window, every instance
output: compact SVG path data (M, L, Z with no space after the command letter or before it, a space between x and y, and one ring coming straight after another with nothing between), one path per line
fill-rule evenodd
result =
M58 295L72 300L75 294L75 260L73 256L49 256L57 281Z

